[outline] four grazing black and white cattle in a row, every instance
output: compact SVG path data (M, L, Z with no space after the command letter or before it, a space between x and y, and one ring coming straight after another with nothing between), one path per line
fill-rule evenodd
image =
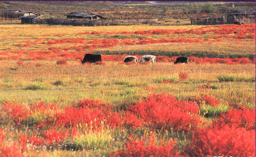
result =
M81 60L81 64L84 64L85 62L89 63L96 63L97 61L102 61L101 55L93 55L93 54L85 54L84 59ZM135 63L137 64L139 62L138 58L136 56L126 56L123 60L123 62L128 63ZM151 62L152 64L156 62L156 56L154 55L143 55L140 58L140 62ZM189 63L189 58L188 57L178 57L174 64L177 63Z

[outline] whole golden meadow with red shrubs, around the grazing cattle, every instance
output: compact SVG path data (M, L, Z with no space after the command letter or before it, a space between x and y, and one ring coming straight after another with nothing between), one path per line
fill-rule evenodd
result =
M0 23L0 41L0 156L255 157L255 24Z

